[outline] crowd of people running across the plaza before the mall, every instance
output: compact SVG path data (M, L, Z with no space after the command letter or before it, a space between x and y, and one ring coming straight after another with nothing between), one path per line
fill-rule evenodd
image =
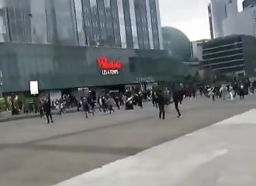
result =
M40 116L43 113L47 116L47 122L54 122L52 118L52 109L55 108L61 115L66 108L77 107L77 111L84 112L85 118L89 115L95 115L95 110L99 109L99 114L112 114L115 109L124 107L126 110L133 109L134 106L144 108L144 102L152 102L152 105L159 110L159 119L165 119L165 112L168 105L174 104L177 112L177 118L182 117L179 105L182 105L184 98L195 98L205 96L212 98L230 98L233 100L237 95L240 99L244 99L244 95L254 94L254 83L250 81L234 81L220 85L205 85L205 84L175 84L171 88L163 88L155 90L151 88L145 92L142 91L126 91L124 93L103 93L98 98L90 93L81 96L80 100L75 100L73 97L64 97L58 100L50 101L45 99L40 102Z

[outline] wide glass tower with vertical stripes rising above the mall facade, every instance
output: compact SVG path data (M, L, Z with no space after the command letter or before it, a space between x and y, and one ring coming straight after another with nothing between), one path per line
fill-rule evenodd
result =
M158 0L0 0L0 42L163 49Z

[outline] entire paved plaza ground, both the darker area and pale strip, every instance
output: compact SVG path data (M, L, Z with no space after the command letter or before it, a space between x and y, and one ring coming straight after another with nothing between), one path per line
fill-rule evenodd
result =
M45 119L3 122L0 185L247 186L256 174L254 108L256 97L249 95L233 102L187 99L182 119L171 105L164 121L146 104L89 119L56 116L54 125ZM246 184L228 182L240 173L237 179Z

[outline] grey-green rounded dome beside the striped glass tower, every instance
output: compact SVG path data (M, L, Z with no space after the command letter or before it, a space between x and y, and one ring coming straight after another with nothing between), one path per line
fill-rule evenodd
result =
M164 50L168 50L172 57L188 62L191 60L191 46L188 36L181 30L171 26L162 28Z

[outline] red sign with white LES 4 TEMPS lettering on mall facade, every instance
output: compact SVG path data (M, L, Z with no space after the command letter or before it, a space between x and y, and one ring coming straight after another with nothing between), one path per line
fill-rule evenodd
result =
M102 70L102 75L118 75L119 70L122 68L122 63L108 60L106 57L98 57L97 62Z

